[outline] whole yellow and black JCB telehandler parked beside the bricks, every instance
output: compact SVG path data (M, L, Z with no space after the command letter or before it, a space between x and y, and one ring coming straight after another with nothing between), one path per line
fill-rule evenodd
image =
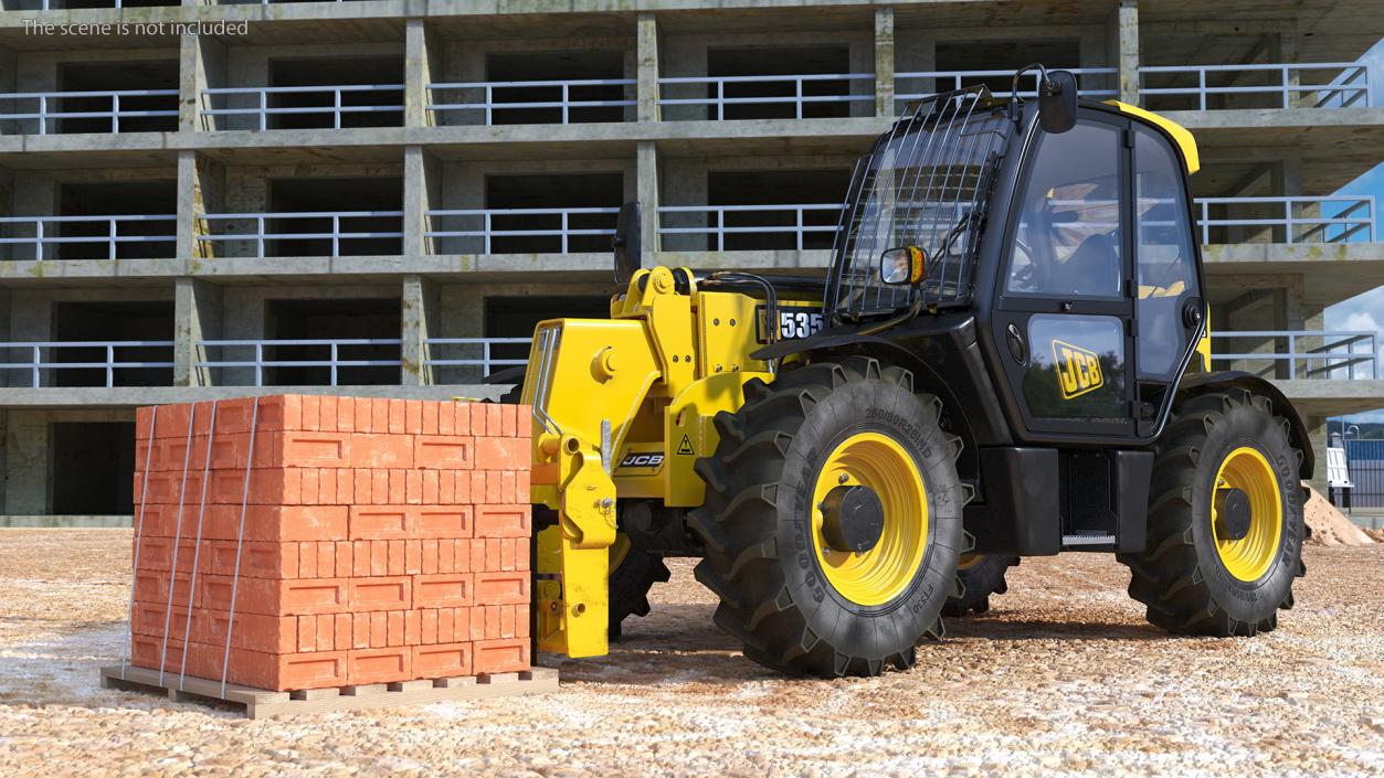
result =
M825 279L645 269L626 206L610 318L541 322L522 384L541 651L605 654L666 556L786 673L908 667L1060 551L1117 554L1167 630L1276 626L1312 456L1279 390L1210 370L1196 144L1031 69L1035 102L941 94L876 140Z

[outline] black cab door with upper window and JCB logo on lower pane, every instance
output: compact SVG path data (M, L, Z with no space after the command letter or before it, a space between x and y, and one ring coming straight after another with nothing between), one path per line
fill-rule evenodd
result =
M1129 122L1084 109L1037 134L1010 209L991 326L1030 441L1136 430Z

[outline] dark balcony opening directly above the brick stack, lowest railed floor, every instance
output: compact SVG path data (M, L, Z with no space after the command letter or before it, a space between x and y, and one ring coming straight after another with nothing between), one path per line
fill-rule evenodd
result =
M316 387L397 386L400 316L397 298L271 300L266 310L266 337L322 343L266 345L263 383ZM331 366L332 343L336 355L335 380ZM281 365L282 362L313 365Z

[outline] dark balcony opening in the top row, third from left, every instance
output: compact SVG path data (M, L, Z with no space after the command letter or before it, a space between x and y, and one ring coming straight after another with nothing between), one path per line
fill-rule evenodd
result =
M624 79L624 53L610 50L491 53L486 57L487 82L592 82ZM624 122L623 105L576 105L632 99L624 84L511 86L493 87L491 124L565 124ZM483 95L480 95L483 98ZM450 102L450 98L447 99ZM505 104L547 102L551 108L501 108ZM567 104L566 112L562 104Z

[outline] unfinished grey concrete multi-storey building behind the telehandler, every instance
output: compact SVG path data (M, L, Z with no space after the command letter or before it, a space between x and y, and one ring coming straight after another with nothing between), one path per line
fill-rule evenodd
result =
M627 200L659 264L825 268L871 140L1030 62L1196 134L1217 368L1318 448L1384 408L1323 321L1384 283L1336 195L1384 162L1370 0L111 3L0 0L8 521L127 515L137 405L494 394L537 321L606 315Z

